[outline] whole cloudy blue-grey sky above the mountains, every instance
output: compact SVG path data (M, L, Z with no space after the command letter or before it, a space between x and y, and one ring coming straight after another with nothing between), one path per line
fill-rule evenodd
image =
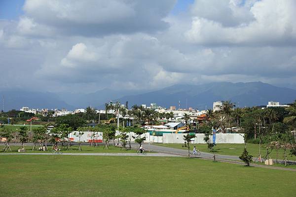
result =
M0 90L296 86L295 0L0 0Z

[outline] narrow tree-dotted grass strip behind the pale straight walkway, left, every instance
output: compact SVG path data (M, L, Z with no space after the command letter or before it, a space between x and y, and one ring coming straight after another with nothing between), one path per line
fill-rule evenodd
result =
M39 146L37 146L36 149L38 149L38 147ZM59 147L62 148L62 146L59 146ZM4 148L4 146L1 145L0 146L0 153L3 153L3 148ZM21 148L21 145L19 145L19 146L11 146L10 145L10 148L11 148L12 152L6 151L6 153L18 153L17 150ZM48 153L47 151L38 151L38 150L32 151L32 148L33 148L33 146L25 146L26 153ZM48 146L49 150L51 150L51 148L52 148L52 146ZM104 148L104 145L99 145L98 147L83 145L82 151L78 151L78 146L74 145L74 146L69 147L68 150L62 149L61 151L63 153L136 153L137 152L136 150L133 150L133 149L120 150L120 148L112 146L112 145L109 146L110 149L103 149L103 148ZM51 151L49 151L49 152L51 152ZM22 154L22 153L20 153L20 154Z

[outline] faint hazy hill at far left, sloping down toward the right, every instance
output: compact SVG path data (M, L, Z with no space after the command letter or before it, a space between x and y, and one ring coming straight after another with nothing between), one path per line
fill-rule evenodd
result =
M73 106L58 98L54 93L30 92L24 90L6 90L0 91L1 108L2 98L4 96L4 111L12 109L20 110L23 106L30 108L48 108L48 109L74 109Z

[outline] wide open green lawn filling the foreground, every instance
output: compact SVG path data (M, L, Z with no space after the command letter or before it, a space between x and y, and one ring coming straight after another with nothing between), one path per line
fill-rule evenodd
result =
M177 157L0 155L1 197L292 197L296 172Z

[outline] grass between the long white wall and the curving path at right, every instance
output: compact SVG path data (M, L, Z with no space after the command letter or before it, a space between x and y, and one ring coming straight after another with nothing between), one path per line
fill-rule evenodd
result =
M154 145L166 146L166 147L173 147L179 149L187 149L187 147L182 147L184 144L180 143L153 143ZM197 143L197 144L190 144L190 149L193 149L193 146L196 146L202 152L210 152L207 148L207 144L204 143ZM233 156L240 156L245 148L245 144L241 143L219 143L214 147L214 151L216 154L220 155L233 155ZM247 144L248 152L253 155L253 157L258 157L259 155L259 144L248 143ZM265 145L261 145L261 156L266 156L266 147ZM269 155L272 159L276 158L276 150L274 149L271 154ZM290 155L290 150L287 151L287 156L289 160L296 160L295 156ZM278 152L278 159L284 159L284 151L279 150Z

